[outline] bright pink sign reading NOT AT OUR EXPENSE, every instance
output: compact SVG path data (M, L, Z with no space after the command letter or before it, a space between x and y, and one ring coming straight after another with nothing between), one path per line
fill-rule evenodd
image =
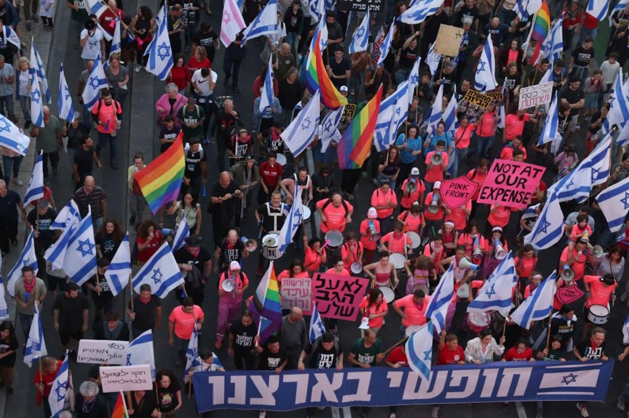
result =
M482 184L477 202L524 209L542 180L545 167L518 163L511 160L494 160Z

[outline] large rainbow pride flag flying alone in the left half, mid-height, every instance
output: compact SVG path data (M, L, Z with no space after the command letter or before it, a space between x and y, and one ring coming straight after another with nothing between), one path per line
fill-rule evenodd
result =
M180 132L177 140L164 153L136 173L135 180L153 215L160 207L179 197L185 168L183 133Z

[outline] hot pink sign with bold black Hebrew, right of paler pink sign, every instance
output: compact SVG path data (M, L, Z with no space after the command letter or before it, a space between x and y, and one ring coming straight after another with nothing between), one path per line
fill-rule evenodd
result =
M321 317L356 321L360 301L369 288L369 282L364 277L315 273L312 297Z

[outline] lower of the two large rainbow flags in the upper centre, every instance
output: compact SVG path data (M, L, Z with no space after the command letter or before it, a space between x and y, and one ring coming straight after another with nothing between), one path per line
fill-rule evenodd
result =
M338 167L360 168L371 148L376 130L376 120L382 99L382 84L359 114L354 116L337 146Z

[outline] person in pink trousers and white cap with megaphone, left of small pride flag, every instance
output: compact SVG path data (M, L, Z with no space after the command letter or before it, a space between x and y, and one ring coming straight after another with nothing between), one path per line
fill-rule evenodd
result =
M249 286L249 279L242 272L238 261L231 261L230 268L221 273L218 279L218 319L216 319L216 343L214 347L220 349L223 346L225 333L230 329L231 323L240 315L242 295ZM227 291L225 289L233 289Z

